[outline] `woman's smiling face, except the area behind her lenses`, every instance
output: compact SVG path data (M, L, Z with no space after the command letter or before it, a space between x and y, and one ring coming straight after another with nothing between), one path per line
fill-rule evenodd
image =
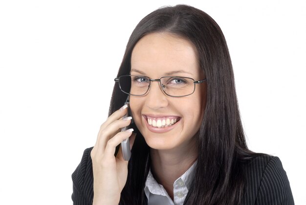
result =
M131 55L131 75L151 79L169 75L194 80L205 78L193 44L169 33L152 33L139 40ZM159 82L151 82L146 95L130 97L131 114L137 128L147 144L158 150L193 146L205 105L206 82L197 84L195 92L184 97L168 96ZM169 125L160 127L163 120Z

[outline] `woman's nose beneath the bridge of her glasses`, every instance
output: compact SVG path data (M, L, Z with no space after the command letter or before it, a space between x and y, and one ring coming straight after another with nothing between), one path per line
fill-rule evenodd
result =
M152 110L158 110L168 106L168 95L166 95L160 87L158 81L152 81L150 90L146 94L146 106Z

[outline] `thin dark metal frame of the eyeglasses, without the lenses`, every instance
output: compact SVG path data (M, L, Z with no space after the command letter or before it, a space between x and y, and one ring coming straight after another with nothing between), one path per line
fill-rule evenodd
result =
M144 94L141 94L141 95L135 95L135 94L131 94L131 93L128 93L128 92L123 91L123 90L121 89L121 85L120 85L120 83L119 83L119 79L120 79L120 77L122 77L122 76L142 76L142 77L148 78L148 79L149 79L148 90L147 90ZM170 95L170 94L168 94L168 93L164 90L164 88L165 88L166 86L163 85L163 84L161 84L161 79L162 79L162 78L166 78L166 77L172 77L172 78L177 77L177 78L188 78L188 79L192 79L192 80L194 81L193 83L194 83L194 85L195 85L194 91L193 91L192 93L190 93L190 94L187 94L187 95L179 95L179 96ZM150 87L151 87L151 81L159 81L159 85L160 85L161 90L162 90L166 95L171 96L171 97L184 97L184 96L191 95L191 94L193 94L193 93L196 91L196 84L203 83L203 82L205 82L206 80L207 80L206 78L204 78L204 79L202 79L202 80L194 80L193 78L190 78L190 77L183 77L183 76L163 76L163 77L160 77L159 79L152 79L152 78L150 78L150 77L148 77L148 76L145 76L145 75L120 75L119 77L116 77L116 78L114 79L115 82L118 82L118 83L119 83L119 88L120 88L121 91L123 91L123 92L126 93L126 94L133 95L133 96L143 96L143 95L147 94L148 91L150 90Z

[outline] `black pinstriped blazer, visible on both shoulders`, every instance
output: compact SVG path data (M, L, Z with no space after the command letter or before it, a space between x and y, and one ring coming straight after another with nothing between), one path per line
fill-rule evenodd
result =
M92 205L91 149L84 151L81 163L72 174L74 205ZM242 205L294 205L290 184L278 157L256 157L246 166L245 173L247 184Z

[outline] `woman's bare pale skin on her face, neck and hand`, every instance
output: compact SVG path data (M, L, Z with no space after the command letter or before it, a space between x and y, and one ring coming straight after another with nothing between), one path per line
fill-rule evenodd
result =
M136 44L131 56L131 74L153 79L172 73L175 76L204 79L193 44L169 33L148 34ZM173 184L197 160L196 133L200 128L206 105L206 83L196 85L193 94L171 97L153 82L144 96L130 97L133 120L150 146L151 171L173 199ZM94 176L94 205L118 204L127 180L128 162L121 151L114 157L115 147L130 137L119 132L131 120L122 120L127 109L116 111L101 126L91 152ZM179 116L174 129L154 133L145 124L145 114ZM134 135L131 136L131 146Z

